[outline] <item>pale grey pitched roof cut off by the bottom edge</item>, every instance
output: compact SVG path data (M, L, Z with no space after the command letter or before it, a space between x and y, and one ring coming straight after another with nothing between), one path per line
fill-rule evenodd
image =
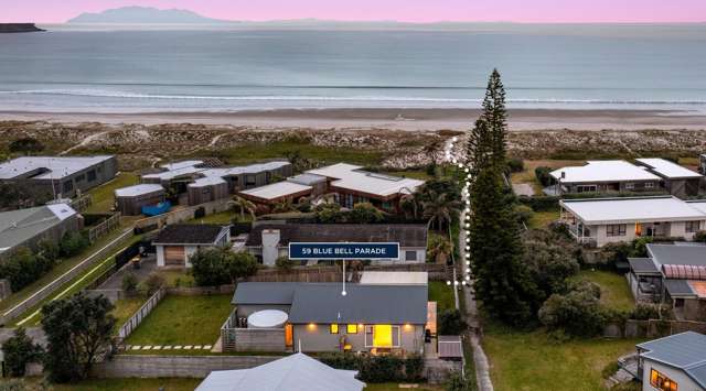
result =
M255 368L213 371L196 391L362 391L356 374L298 352Z

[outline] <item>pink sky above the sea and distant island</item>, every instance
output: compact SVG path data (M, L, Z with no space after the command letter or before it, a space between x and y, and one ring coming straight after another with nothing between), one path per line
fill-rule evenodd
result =
M706 0L0 0L0 22L64 22L125 6L228 20L705 22Z

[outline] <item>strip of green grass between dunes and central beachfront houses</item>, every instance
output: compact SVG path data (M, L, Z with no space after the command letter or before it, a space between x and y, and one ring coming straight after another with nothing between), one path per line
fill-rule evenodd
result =
M362 165L378 165L384 156L383 152L313 145L303 139L292 139L267 143L250 143L220 151L228 164L248 164L267 159L281 159L287 152L299 151L306 159L313 159L322 163L347 162Z

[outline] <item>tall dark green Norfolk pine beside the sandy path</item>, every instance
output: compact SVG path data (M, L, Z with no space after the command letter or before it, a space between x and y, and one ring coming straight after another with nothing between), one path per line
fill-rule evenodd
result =
M498 99L495 99L498 98ZM481 305L499 319L520 325L534 316L536 286L522 263L521 227L505 196L504 91L493 72L484 112L471 131L470 260ZM502 145L501 145L502 142Z

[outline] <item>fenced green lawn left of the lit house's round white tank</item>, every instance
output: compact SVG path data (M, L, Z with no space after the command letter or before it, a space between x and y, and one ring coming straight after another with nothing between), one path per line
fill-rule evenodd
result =
M233 311L232 295L167 296L128 337L128 345L213 345Z

